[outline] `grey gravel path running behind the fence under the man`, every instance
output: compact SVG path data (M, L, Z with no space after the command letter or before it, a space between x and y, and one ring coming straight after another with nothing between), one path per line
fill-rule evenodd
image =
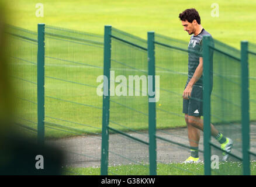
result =
M241 126L217 126L225 136L234 141L233 154L241 155ZM228 129L228 130L227 130ZM128 133L130 136L140 138L148 142L147 133ZM157 131L157 136L175 141L188 146L187 129L169 129ZM251 125L251 151L256 153L256 125ZM219 146L214 138L212 142ZM61 140L48 140L47 144L61 148L65 153L65 165L67 167L100 167L101 165L101 137L100 136L78 136L63 138ZM199 143L199 149L203 150L203 133ZM221 151L212 148L212 154L220 155ZM157 162L170 163L182 162L189 156L189 150L175 144L157 139ZM124 158L125 157L125 158ZM203 160L203 153L199 153L200 160ZM231 158L234 160L234 158ZM255 159L254 159L255 160ZM235 160L234 160L235 161ZM133 162L148 163L148 146L138 141L131 140L120 134L109 135L109 165L130 164Z

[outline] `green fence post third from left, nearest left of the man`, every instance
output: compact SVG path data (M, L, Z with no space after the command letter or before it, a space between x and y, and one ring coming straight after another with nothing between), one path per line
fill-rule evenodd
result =
M152 76L153 91L155 91L155 46L154 32L147 33L148 43L148 76ZM149 82L148 82L149 84ZM155 102L150 102L150 98L155 96L148 95L148 134L149 134L149 158L150 175L157 175L157 145L155 140Z

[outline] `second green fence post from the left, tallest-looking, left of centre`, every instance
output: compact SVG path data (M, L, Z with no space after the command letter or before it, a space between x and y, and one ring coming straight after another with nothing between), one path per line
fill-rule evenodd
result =
M103 80L103 109L102 109L102 143L101 143L101 175L108 175L109 151L109 97L110 97L110 57L111 57L111 26L105 26L104 31L104 70L108 79ZM106 86L108 85L108 86ZM106 90L108 89L108 94Z

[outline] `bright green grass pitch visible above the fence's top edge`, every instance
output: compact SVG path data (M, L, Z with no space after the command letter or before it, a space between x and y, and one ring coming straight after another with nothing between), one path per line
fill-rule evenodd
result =
M254 22L256 2L221 1L219 18L212 17L212 1L103 1L103 0L44 0L44 17L36 17L37 0L15 1L9 4L9 18L13 25L37 30L37 23L66 27L85 32L103 34L104 25L133 33L144 39L147 32L172 36L188 41L178 15L186 8L199 11L202 26L216 39L240 48L241 40L256 41Z

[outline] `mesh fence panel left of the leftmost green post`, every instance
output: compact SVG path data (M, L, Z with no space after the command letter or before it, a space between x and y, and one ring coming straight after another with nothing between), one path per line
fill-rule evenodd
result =
M9 75L19 132L37 138L37 33L6 25Z

